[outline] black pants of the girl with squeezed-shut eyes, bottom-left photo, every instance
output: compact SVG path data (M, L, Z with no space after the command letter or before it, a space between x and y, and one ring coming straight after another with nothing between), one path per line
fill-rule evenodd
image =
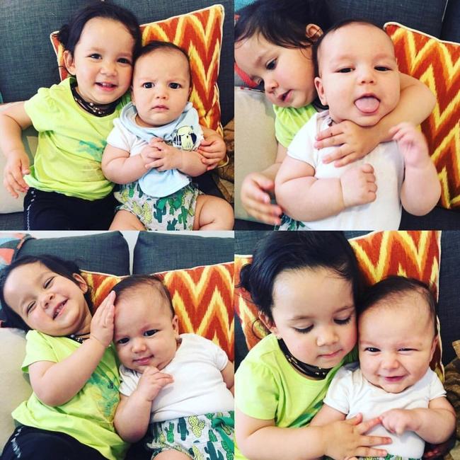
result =
M6 442L0 459L105 460L105 456L64 433L20 425Z

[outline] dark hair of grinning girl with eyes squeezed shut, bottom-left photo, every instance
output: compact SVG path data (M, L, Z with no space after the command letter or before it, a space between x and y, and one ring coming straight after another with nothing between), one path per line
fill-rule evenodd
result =
M41 263L45 265L48 270L51 270L57 275L61 275L63 277L68 278L69 280L73 281L75 284L79 285L80 283L74 278L74 273L81 275L79 266L76 263L72 262L71 260L64 260L62 258L56 257L55 255L24 255L16 260L14 260L10 265L7 265L3 270L0 272L0 304L1 304L1 312L5 318L5 326L11 328L19 328L25 331L30 330L30 327L25 323L23 318L19 316L16 311L11 309L6 303L4 297L4 288L6 280L10 273L18 267L22 267L23 265L30 265L31 263ZM84 294L84 298L86 303L88 304L88 308L90 311L93 311L93 301L91 300L91 290L88 289Z

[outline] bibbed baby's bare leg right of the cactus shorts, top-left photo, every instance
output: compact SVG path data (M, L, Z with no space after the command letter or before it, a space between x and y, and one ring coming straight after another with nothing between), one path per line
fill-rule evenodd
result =
M234 210L228 202L212 195L199 195L195 207L194 230L232 230Z

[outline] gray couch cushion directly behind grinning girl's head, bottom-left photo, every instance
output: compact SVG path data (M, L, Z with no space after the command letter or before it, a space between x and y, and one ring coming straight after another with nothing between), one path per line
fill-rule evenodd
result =
M15 257L39 254L52 254L63 259L74 260L82 270L111 275L130 274L130 251L119 231L85 236L28 239Z

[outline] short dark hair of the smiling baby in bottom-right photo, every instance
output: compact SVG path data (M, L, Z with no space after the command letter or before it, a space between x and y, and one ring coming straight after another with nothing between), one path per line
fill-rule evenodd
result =
M430 288L424 282L404 276L391 275L384 280L368 287L363 294L362 300L357 304L357 315L360 317L364 311L372 309L382 301L384 304L391 305L393 301L401 300L405 294L417 293L426 302L430 311L430 318L433 322L433 330L437 335L437 304Z

